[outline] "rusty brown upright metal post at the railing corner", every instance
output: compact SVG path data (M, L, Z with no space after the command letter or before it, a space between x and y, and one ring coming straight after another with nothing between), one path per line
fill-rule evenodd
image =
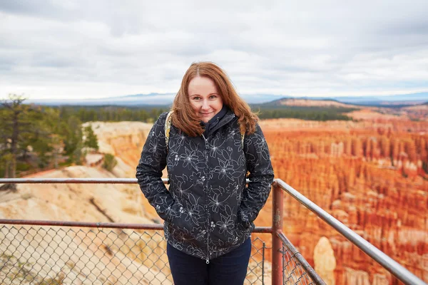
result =
M282 232L283 191L277 182L272 184L272 285L282 284Z

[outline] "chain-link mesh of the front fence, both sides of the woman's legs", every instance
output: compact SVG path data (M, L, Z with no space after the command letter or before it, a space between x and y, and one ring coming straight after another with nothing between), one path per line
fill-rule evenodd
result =
M265 242L252 242L245 284L270 284ZM165 246L155 230L3 225L0 284L173 284Z

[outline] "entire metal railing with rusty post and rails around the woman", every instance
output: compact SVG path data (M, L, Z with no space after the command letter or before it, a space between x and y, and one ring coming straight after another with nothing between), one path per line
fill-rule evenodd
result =
M106 179L94 179L94 178L27 178L27 179L0 179L1 183L116 183L116 184L135 184L137 180L135 178L106 178ZM163 179L163 182L168 183L167 179ZM298 202L305 205L312 212L317 214L318 217L323 219L331 227L335 228L337 232L340 232L345 238L350 240L357 247L362 249L367 255L372 257L381 266L391 272L397 279L404 282L404 284L417 284L423 285L424 281L419 279L417 276L412 274L410 271L405 269L403 266L398 264L396 261L388 257L386 254L381 252L379 249L374 247L372 244L367 242L365 239L360 237L358 234L353 232L351 229L346 227L344 224L339 222L337 219L332 217L330 214L325 212L322 208L318 207L314 202L307 199L307 197L301 195L297 190L292 188L287 183L280 179L276 179L272 185L273 199L272 199L272 227L256 227L255 232L270 233L272 234L272 284L325 284L324 281L318 276L312 266L302 257L302 254L295 249L295 247L288 241L285 234L282 232L282 213L283 213L283 192L287 192L292 197L297 199ZM77 222L52 222L52 221L21 221L11 219L0 219L0 224L33 224L33 225L68 225L75 224L76 227L88 227L91 223L79 223ZM85 225L86 224L86 225ZM137 224L115 224L115 223L96 223L96 227L116 227L116 228L128 228L128 229L142 229L149 225L137 225ZM159 227L161 225L151 225L151 227ZM154 228L153 228L154 229ZM158 230L159 230L158 229ZM263 252L266 247L263 247ZM264 256L264 255L263 255ZM263 259L264 261L264 259ZM258 278L264 284L264 266L263 274L261 278ZM251 272L251 270L250 270Z

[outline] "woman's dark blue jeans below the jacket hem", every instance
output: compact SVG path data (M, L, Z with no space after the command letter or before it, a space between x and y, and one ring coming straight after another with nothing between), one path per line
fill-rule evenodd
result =
M170 246L166 247L175 285L243 285L251 254L251 239L220 257L193 257Z

